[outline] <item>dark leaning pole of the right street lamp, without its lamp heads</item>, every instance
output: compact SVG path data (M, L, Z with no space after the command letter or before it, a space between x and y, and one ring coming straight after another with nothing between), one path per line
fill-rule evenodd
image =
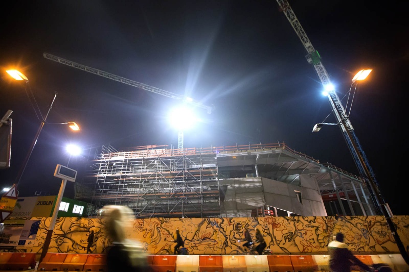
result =
M332 97L331 97L331 100L332 100ZM334 101L332 101L332 102L334 102ZM352 139L352 135L351 135L350 131L348 130L346 124L345 124L345 120L346 120L345 118L342 119L342 125L344 126L345 131L347 132L348 138L352 143L354 151L358 156L359 162L360 162L363 170L365 171L365 175L367 176L367 179L369 181L369 185L371 187L369 192L372 194L373 199L375 199L375 202L376 202L375 204L378 205L379 209L382 212L383 217L385 217L385 220L388 223L389 229L391 230L392 235L393 235L393 237L395 239L396 245L398 246L400 254L402 255L405 262L407 264L409 264L409 256L407 255L405 246L403 245L403 243L402 243L402 241L401 241L401 239L399 237L399 234L396 231L396 228L395 228L395 225L393 224L392 218L391 218L391 216L389 215L389 213L387 211L387 207L386 207L387 204L384 202L383 197L380 194L380 190L379 190L378 186L376 185L376 183L372 179L372 175L370 174L367 165L365 164L361 154L358 152L358 147L356 146L355 142Z

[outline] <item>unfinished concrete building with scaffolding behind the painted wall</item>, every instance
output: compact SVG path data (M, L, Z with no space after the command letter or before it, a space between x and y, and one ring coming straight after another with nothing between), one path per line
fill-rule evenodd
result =
M284 143L172 149L167 145L90 156L76 199L126 205L137 217L375 215L365 180Z

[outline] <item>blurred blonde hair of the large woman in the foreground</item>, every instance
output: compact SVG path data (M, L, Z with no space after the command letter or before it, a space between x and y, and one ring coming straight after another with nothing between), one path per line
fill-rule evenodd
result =
M105 219L105 227L112 241L124 242L126 228L132 226L134 219L132 210L126 206L107 205L99 213Z

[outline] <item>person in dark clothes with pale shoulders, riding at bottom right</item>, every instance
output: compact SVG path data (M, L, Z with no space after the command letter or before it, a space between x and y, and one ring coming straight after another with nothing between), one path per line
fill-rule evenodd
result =
M344 243L344 234L338 232L335 240L328 244L330 254L329 267L333 272L351 272L351 265L355 264L366 271L374 271L374 268L366 265L356 258Z

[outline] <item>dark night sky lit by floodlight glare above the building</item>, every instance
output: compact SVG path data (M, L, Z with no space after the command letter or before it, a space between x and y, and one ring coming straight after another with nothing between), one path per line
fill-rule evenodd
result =
M289 3L339 98L357 71L373 69L358 85L350 120L385 201L394 214L409 214L402 169L406 10L369 1ZM58 92L18 184L20 196L58 193L56 164L83 164L66 153L67 143L177 147L167 115L178 101L53 62L44 52L214 105L211 114L195 109L201 121L185 130L184 147L285 142L358 175L339 128L312 133L315 123L335 118L276 1L26 1L8 3L0 14L0 115L13 110L11 167L0 169L2 188L14 183L41 122L24 84L5 73L9 68L29 78L42 115ZM81 131L56 124L67 121ZM73 196L72 184L64 196Z

